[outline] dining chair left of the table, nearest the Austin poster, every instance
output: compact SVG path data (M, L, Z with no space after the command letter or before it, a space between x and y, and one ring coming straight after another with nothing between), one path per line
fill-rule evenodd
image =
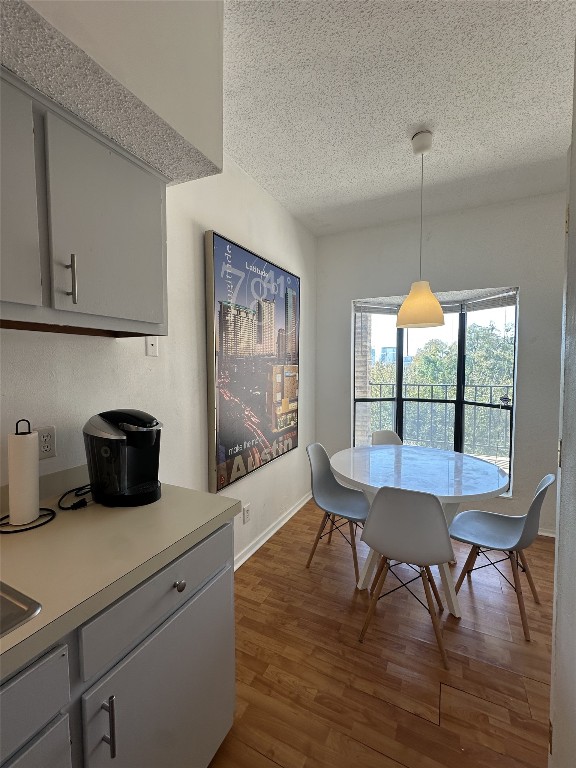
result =
M358 553L356 552L356 526L363 525L366 520L370 509L368 499L362 491L347 488L336 480L330 466L330 459L323 445L312 443L306 448L306 452L310 459L310 470L312 472L312 496L316 504L324 512L318 533L312 545L312 551L306 563L306 568L310 568L310 563L320 539L328 536L328 541L330 542L332 533L338 531L352 547L354 573L356 575L356 583L358 583L360 572L358 569ZM325 531L328 522L330 522L330 527L328 531ZM348 523L349 539L342 531L346 523Z

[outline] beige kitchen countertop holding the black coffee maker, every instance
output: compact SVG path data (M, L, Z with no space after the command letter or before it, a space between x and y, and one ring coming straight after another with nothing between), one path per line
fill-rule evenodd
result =
M43 506L57 509L54 500ZM240 512L235 499L162 484L143 507L90 503L0 536L0 578L42 606L0 638L6 678Z

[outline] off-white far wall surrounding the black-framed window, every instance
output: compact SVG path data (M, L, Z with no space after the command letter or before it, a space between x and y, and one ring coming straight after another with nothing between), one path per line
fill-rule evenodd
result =
M556 468L564 194L424 220L423 277L432 289L518 286L514 490L490 503L523 514L538 481ZM318 241L317 439L329 453L351 444L354 299L406 293L418 275L419 227L397 222ZM554 532L548 494L541 527Z

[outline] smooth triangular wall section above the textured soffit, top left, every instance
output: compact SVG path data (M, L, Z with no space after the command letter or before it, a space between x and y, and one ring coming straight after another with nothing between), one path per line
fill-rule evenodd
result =
M221 0L28 5L221 167Z

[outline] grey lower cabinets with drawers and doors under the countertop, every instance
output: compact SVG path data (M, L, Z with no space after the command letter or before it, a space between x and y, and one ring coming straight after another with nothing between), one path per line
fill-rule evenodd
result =
M0 768L207 768L232 727L233 525L0 685Z

